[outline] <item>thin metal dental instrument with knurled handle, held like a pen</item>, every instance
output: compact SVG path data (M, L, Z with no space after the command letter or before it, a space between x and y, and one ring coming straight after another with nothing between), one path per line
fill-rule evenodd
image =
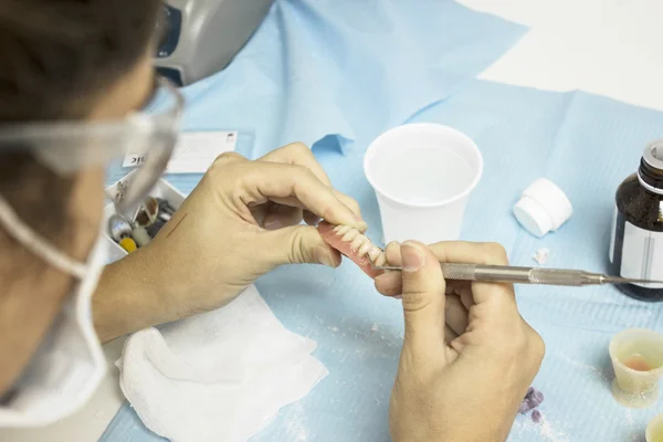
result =
M516 267L511 265L480 265L440 263L445 280L476 281L511 284L543 285L601 285L601 284L663 284L663 281L633 280L620 276L590 273L581 270ZM402 267L373 265L376 270L396 270Z

